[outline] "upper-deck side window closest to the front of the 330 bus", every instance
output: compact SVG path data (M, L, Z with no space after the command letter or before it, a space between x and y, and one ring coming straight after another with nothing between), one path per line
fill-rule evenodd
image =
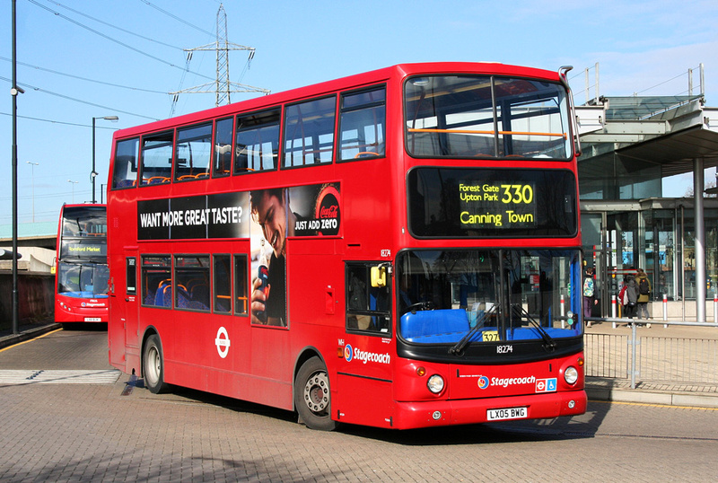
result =
M342 95L339 127L342 161L384 156L386 89Z

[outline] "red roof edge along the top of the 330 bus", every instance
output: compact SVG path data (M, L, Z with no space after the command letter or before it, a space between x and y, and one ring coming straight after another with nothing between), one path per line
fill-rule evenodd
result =
M114 138L121 139L130 136L138 136L148 131L160 131L171 127L182 126L201 122L204 119L215 119L223 116L232 116L238 112L249 112L260 110L268 106L282 104L285 102L299 101L311 97L320 96L329 92L361 88L363 85L387 81L391 77L403 78L415 74L463 74L482 73L486 75L521 75L538 77L549 81L559 81L558 71L548 71L534 67L511 66L497 62L425 62L415 64L398 64L396 66L384 67L381 69L365 72L362 74L349 75L339 79L315 83L298 87L289 91L276 92L266 96L256 97L246 101L234 102L207 110L200 110L184 114L176 118L162 119L136 127L127 127L115 131Z

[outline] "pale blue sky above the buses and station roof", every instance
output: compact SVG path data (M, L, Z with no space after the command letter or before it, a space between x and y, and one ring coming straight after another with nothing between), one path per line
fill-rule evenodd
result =
M12 3L0 4L0 224L11 222ZM215 53L183 48L215 42L215 0L17 0L18 194L20 223L57 219L64 202L92 199L96 162L107 182L112 130L170 117L180 91L211 82ZM718 106L718 2L575 0L225 0L232 82L272 92L404 62L497 61L569 75L577 103L595 95L687 92L688 69L705 65L705 97ZM232 94L232 101L256 94ZM215 105L214 94L181 94L174 114ZM37 162L31 165L29 162ZM33 174L34 171L34 174ZM664 196L682 196L687 180ZM706 180L709 175L706 175ZM68 182L70 180L71 182ZM76 181L76 182L74 182ZM34 187L34 197L32 195Z

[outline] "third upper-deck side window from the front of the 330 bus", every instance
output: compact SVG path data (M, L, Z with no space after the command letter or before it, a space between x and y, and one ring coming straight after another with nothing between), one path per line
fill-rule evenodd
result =
M278 109L255 112L237 118L237 145L234 174L276 170L279 156Z

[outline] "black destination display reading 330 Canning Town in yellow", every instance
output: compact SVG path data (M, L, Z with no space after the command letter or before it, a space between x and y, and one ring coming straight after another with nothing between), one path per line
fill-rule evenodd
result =
M419 238L566 237L578 227L568 170L416 168L407 192Z

